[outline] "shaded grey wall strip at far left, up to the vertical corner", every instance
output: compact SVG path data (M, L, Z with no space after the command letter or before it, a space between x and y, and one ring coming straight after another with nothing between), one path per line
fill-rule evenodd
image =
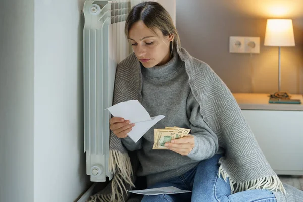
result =
M0 201L33 201L34 1L0 2Z

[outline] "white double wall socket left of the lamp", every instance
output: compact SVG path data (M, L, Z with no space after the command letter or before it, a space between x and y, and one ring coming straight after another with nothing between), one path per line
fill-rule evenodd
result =
M260 53L260 37L230 36L229 53Z

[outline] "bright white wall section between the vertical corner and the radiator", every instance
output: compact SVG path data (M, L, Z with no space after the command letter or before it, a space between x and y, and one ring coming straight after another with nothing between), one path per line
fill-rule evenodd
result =
M88 186L83 152L83 3L35 1L35 201L73 201Z

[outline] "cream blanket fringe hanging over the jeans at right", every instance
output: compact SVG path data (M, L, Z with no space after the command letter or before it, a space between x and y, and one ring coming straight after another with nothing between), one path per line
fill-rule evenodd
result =
M230 179L228 173L223 170L222 165L219 167L218 175L220 178L222 176L225 182L227 181L227 178L229 178L229 185L232 193L254 189L269 189L270 191L280 191L282 194L286 194L286 190L277 175L266 176L255 180L238 183Z

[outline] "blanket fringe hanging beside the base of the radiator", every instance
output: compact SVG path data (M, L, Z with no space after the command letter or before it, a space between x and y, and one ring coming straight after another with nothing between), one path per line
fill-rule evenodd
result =
M127 188L123 181L135 187L131 179L133 170L128 154L110 150L109 170L114 174L111 182L112 194L95 194L87 202L124 202L124 194L127 194Z

